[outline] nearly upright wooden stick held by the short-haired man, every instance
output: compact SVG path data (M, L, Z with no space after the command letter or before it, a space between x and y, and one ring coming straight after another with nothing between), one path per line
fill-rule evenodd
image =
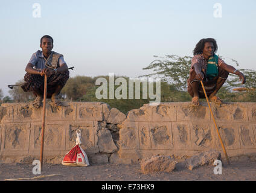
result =
M46 106L46 93L47 93L47 76L45 74L45 88L43 90L43 121L42 121L42 139L41 139L41 152L40 152L40 171L43 168L43 142L45 140L45 106Z

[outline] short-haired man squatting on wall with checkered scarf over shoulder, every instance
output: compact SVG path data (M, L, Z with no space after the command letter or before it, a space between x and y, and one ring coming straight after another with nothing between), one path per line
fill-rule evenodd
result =
M63 55L51 51L53 49L53 38L45 35L40 39L40 48L32 56L27 64L22 89L25 92L33 92L36 100L33 106L39 108L43 100L44 74L47 76L47 98L51 98L54 106L61 106L59 93L69 78L68 66Z

